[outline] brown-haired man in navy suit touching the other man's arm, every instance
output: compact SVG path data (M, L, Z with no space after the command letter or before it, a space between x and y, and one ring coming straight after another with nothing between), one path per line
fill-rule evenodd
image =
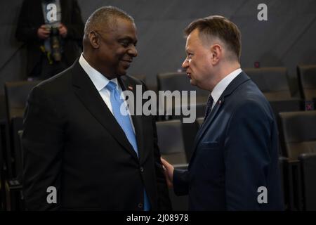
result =
M238 27L221 16L192 22L183 62L192 85L211 92L187 170L162 160L190 210L282 210L277 124L266 98L240 69Z

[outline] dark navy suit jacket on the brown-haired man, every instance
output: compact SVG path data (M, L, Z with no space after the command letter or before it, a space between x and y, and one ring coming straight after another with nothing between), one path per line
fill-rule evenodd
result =
M189 194L190 210L283 210L277 124L244 72L206 117L189 168L175 169L173 186L177 195ZM261 186L268 203L258 203Z

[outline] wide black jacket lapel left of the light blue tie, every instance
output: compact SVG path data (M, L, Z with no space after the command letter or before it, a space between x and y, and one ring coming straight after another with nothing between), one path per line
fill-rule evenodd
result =
M128 150L134 158L138 159L131 143L129 143L129 140L126 138L123 129L121 129L119 123L115 120L109 108L107 108L103 98L98 93L98 90L86 72L84 72L81 68L78 61L74 63L72 70L72 85L74 93L78 96L80 101L85 105L93 117L95 117L96 120L98 120L98 122L100 122L100 124L109 131L114 139L116 139L122 147Z

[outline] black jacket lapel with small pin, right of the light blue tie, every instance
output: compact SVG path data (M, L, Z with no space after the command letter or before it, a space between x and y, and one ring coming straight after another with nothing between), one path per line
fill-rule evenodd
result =
M143 134L143 121L141 115L136 115L136 83L135 82L129 82L129 79L127 76L119 77L118 78L119 84L121 84L121 89L123 91L129 90L133 92L134 96L134 112L131 113L131 118L133 120L133 125L135 128L135 134L136 134L136 141L138 146L138 158L140 162L144 159L144 149L143 149L143 143L144 143L144 135Z

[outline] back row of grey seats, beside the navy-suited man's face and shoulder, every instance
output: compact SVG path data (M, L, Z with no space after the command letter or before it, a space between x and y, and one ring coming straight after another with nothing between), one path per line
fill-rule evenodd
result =
M244 68L244 72L258 85L269 101L291 98L287 68ZM305 100L316 98L316 65L297 66L298 86ZM157 75L158 90L197 91L197 102L204 101L208 91L197 89L188 81L185 72L166 72ZM201 98L201 99L199 99Z

